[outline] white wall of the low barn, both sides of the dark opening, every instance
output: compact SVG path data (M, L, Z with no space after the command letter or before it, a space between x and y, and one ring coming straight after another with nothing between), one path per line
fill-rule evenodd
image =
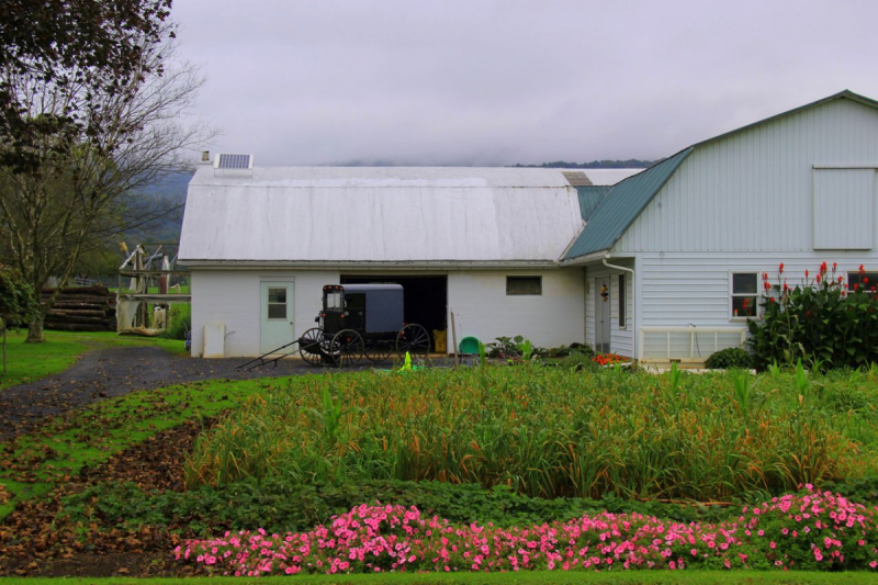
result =
M392 271L382 270L381 274L391 275ZM458 341L474 336L487 344L496 337L522 335L539 347L555 347L585 340L582 269L469 270L447 274L448 304L457 319ZM542 295L507 296L507 275L541 275ZM193 356L201 355L204 324L214 322L226 326L227 357L259 355L260 282L266 280L294 282L297 337L314 326L324 284L338 283L340 277L338 272L324 271L193 270ZM450 326L448 335L451 348Z

